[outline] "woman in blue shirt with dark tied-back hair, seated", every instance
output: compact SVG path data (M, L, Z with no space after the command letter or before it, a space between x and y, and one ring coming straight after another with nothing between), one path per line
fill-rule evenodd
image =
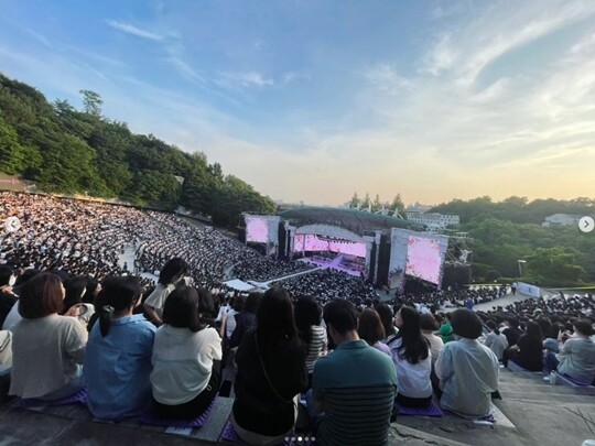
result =
M108 278L99 293L102 306L89 334L83 368L87 404L97 418L138 415L150 402L155 327L143 315L132 314L140 296L133 276Z

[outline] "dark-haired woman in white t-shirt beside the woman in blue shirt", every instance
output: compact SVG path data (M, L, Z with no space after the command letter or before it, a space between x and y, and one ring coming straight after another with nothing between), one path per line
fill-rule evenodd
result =
M221 339L199 319L195 289L180 286L163 308L153 346L153 407L158 416L194 420L213 402L220 383Z

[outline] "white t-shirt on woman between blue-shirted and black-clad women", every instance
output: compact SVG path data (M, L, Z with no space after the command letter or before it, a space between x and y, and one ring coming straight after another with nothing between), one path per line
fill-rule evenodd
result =
M193 333L163 325L155 334L151 359L153 398L169 405L194 400L208 384L213 361L221 356L221 339L215 328Z

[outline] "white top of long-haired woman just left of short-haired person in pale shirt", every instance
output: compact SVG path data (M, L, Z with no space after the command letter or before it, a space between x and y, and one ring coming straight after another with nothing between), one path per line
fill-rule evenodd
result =
M409 398L428 398L432 395L432 352L428 351L428 358L412 365L405 358L399 358L399 347L402 339L397 338L390 342L390 356L397 369L397 392Z

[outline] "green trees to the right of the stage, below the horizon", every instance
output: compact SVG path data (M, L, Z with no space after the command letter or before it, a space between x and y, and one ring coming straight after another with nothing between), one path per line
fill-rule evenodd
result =
M476 281L523 278L544 286L595 283L595 233L577 226L542 227L553 214L594 215L595 199L572 200L510 197L455 199L431 211L458 214L459 229L469 233ZM520 262L519 262L520 260Z

